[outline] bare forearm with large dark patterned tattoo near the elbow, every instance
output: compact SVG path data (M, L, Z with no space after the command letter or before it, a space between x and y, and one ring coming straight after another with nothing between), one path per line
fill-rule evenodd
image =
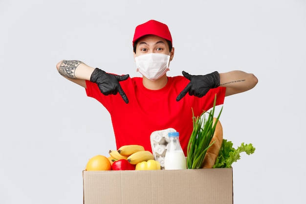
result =
M85 80L90 80L90 76L95 69L78 60L63 60L56 65L56 68L66 79L84 88L86 88Z

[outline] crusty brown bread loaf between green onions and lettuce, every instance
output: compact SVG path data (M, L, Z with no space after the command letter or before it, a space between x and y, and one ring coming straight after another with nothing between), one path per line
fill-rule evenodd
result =
M215 124L216 119L217 118L214 117L213 125ZM219 120L217 122L215 133L214 133L211 143L214 141L215 143L211 147L209 147L206 152L202 168L212 168L219 155L219 150L221 148L222 141L223 141L223 129L222 129L222 125Z

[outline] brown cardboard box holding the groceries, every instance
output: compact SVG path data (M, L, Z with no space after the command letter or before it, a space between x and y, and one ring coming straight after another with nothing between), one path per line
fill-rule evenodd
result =
M233 204L233 170L83 171L84 204Z

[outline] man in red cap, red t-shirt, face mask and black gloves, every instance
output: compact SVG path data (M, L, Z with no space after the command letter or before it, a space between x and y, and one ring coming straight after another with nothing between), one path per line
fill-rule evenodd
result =
M225 96L248 91L258 82L253 74L238 70L167 76L175 53L172 36L166 24L154 20L136 26L132 45L136 70L143 77L111 74L77 60L63 60L56 66L109 111L117 148L139 144L152 152L152 132L174 128L187 156L193 114L211 109L215 95L220 105Z

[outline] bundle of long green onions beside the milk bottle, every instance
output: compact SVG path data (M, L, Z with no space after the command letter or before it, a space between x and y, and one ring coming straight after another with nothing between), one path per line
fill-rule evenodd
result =
M193 132L187 146L188 169L202 168L207 149L213 144L210 143L214 136L216 125L223 109L222 107L213 125L216 101L217 96L215 95L214 106L210 112L204 111L196 117L193 111ZM208 114L207 119L205 113Z

